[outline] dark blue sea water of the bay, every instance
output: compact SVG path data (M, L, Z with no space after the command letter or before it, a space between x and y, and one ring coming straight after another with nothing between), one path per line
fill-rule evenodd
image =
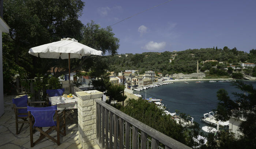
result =
M184 80L185 81L185 80ZM232 85L232 82L209 82L196 83L196 81L186 81L189 84L184 84L184 81L177 81L174 84L162 85L155 88L147 89L146 98L162 99L162 103L171 113L179 110L194 118L194 121L199 123L200 127L206 126L205 122L201 121L204 113L208 113L217 108L218 98L217 91L225 89L231 99L236 98L233 92L244 93ZM246 84L252 84L256 88L256 81L243 81ZM146 91L134 91L133 93L141 94L145 97Z

